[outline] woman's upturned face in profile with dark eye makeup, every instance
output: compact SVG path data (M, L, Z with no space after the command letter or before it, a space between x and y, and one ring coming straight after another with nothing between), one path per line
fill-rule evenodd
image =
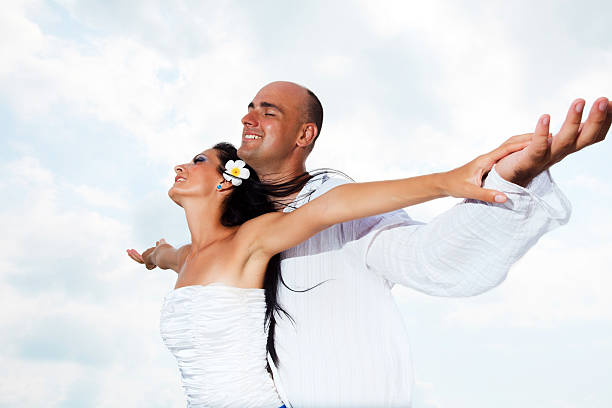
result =
M206 198L216 193L216 186L224 181L219 174L219 158L215 149L208 149L197 154L190 163L174 167L176 177L168 195L182 207L187 197Z

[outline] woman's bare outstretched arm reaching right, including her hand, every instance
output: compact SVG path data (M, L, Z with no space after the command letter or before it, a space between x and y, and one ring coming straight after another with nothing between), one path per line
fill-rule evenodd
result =
M506 196L481 187L483 176L500 158L524 148L531 134L510 138L494 151L445 173L370 183L350 183L290 213L271 213L244 224L251 254L272 256L294 247L331 225L381 214L440 197L504 202Z

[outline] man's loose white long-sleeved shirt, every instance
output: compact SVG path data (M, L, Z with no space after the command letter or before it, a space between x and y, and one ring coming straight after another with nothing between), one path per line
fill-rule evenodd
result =
M346 182L315 178L294 206ZM428 224L404 211L363 218L283 252L281 271L289 288L303 291L324 282L305 292L279 283L279 303L293 321L277 317L279 366L270 365L287 407L411 405L408 333L393 285L435 296L487 291L571 213L548 171L523 188L493 169L484 186L503 191L508 201L465 200Z

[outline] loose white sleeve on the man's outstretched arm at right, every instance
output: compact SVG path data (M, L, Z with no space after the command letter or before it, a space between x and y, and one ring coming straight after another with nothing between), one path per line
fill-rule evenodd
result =
M569 220L570 203L548 171L523 188L493 169L484 186L508 200L465 200L428 224L401 211L360 220L366 267L427 294L477 295L500 284L542 235Z

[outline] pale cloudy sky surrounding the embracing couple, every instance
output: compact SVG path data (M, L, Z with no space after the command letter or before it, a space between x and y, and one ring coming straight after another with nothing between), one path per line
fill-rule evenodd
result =
M457 167L612 97L607 1L23 1L0 9L0 407L182 407L159 336L185 244L172 168L240 142L257 90L321 99L307 163L358 181ZM415 408L610 407L612 142L553 166L572 203L488 293L396 287ZM428 221L443 199L407 209Z

